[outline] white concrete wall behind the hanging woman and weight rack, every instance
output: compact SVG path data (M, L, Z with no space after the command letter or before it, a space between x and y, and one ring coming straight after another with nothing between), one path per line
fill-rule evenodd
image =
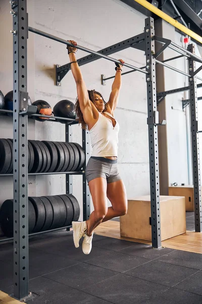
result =
M79 45L98 51L143 32L145 16L114 0L39 1L34 2L34 27L63 39L73 39ZM34 35L30 33L30 36ZM54 106L66 98L75 102L77 93L71 71L55 86L55 65L69 62L66 47L45 37L34 36L35 99L44 99ZM78 50L77 58L86 56ZM127 63L145 65L143 52L128 49L111 55ZM89 89L96 89L108 101L113 80L102 86L100 75L115 74L115 65L104 59L81 66ZM124 68L124 70L128 70ZM115 117L120 123L119 170L126 185L128 198L149 194L149 164L147 139L147 102L145 76L134 72L123 77ZM36 122L36 139L64 140L65 126L60 123ZM81 143L81 129L73 126L73 141ZM43 186L41 186L43 185ZM65 192L65 176L36 177L37 195L56 195ZM82 180L74 176L73 194L82 206ZM91 204L91 210L93 210Z

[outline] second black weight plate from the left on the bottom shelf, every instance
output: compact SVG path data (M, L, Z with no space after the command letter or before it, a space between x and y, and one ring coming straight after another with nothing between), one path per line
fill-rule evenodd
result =
M34 210L36 213L36 224L33 229L33 232L41 231L44 222L45 222L45 207L43 202L37 197L28 197L32 205L34 206Z

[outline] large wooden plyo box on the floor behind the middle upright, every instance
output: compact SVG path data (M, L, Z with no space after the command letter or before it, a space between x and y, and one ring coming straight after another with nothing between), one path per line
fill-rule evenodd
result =
M128 211L120 216L122 237L151 241L150 196L128 200ZM160 196L161 240L186 232L184 197Z

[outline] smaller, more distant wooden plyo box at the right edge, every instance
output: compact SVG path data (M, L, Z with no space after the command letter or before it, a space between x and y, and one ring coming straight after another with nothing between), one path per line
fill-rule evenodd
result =
M194 211L193 185L169 187L168 195L184 196L185 204L186 204L186 211Z

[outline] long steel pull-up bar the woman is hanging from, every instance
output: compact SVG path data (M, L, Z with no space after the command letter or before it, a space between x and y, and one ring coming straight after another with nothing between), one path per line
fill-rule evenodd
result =
M57 37L57 36L48 34L48 33L46 33L46 32L43 32L43 31L41 31L41 30L38 30L38 29L33 28L33 27L30 27L30 26L28 27L28 29L29 29L29 31L31 31L31 32L33 32L33 33L35 33L35 34L44 36L44 37L46 37L46 38L55 40L55 41L57 41L57 42L60 42L60 43L63 43L63 44L65 44L65 45L67 45L67 46L70 46L70 47L74 47L74 48L75 48L74 45L72 45L71 43L69 43L69 42L68 42L67 40L65 40L65 39L61 39L61 38L59 38L59 37ZM84 47L82 47L82 46L77 45L76 48L79 49L79 50L82 50L82 51L84 51L84 52L87 52L87 53L90 53L90 54L95 54L95 55L97 55L97 56L99 56L99 57L102 57L102 58L105 58L105 59L107 59L107 60L110 60L110 61L113 61L113 62L116 62L116 63L119 63L119 64L120 64L120 61L117 60L117 59L114 59L114 58L112 58L112 57L106 56L106 55L104 55L104 54L100 54L100 53L98 53L98 52L95 52L95 51L92 51L92 50L90 50L90 49L84 48ZM142 70L142 69L140 69L140 68L138 68L138 67L135 67L135 66L133 66L133 65L130 65L130 64L127 64L127 63L123 63L122 65L127 66L127 67L129 67L129 68L132 68L133 70L137 70L137 71L139 71L139 72L142 72L142 73L144 73L144 74L148 74L147 71L144 71L144 70Z

